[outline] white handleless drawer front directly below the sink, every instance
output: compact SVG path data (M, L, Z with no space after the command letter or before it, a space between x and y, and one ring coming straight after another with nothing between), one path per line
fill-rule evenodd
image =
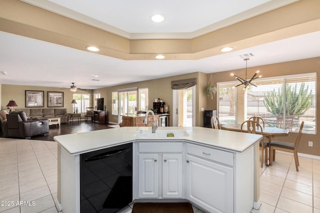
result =
M139 142L139 152L182 152L182 142Z

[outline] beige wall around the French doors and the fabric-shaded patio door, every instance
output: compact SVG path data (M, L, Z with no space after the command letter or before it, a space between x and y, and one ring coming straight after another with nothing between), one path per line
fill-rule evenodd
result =
M152 108L152 103L156 98L162 98L163 102L168 105L169 112L172 113L172 89L171 81L197 78L196 84L196 107L195 107L195 126L203 126L203 112L200 112L201 107L206 108L206 97L203 93L203 87L206 81L206 74L200 72L194 72L184 75L176 75L166 78L158 78L148 81L140 81L130 84L123 84L119 86L106 87L93 90L93 93L100 93L101 98L104 98L106 109L109 112L108 121L117 123L117 115L111 115L111 92L115 92L118 89L124 88L148 88L148 108ZM205 79L203 83L203 79ZM170 118L170 126L172 125L172 119Z

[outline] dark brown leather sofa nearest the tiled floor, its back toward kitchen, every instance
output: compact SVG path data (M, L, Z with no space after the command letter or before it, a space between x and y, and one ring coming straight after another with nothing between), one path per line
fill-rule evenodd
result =
M2 127L5 137L30 139L36 135L48 135L49 120L27 120L23 111L13 111L6 115Z

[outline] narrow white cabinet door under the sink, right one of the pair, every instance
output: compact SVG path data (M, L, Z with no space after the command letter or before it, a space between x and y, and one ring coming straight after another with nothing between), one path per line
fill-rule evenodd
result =
M182 198L182 154L162 155L162 197Z

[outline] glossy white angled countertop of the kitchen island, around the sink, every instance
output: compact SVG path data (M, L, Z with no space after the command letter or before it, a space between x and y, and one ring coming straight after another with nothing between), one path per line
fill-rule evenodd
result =
M227 130L216 130L204 127L159 127L158 130L184 130L189 136L174 138L136 137L139 130L150 130L151 127L121 127L96 130L84 133L54 136L54 140L70 155L82 154L102 148L125 144L134 141L189 141L212 146L231 152L243 152L262 136Z

